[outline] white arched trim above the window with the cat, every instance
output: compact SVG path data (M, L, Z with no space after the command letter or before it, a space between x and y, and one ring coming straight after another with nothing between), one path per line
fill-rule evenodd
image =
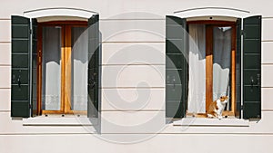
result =
M236 18L244 18L249 16L250 12L224 7L203 7L176 11L173 15L181 18L200 17L200 16L229 16Z

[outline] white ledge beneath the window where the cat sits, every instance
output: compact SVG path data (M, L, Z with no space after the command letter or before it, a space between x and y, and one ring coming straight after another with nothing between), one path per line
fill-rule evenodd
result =
M184 118L173 122L174 126L196 127L248 127L248 120L240 119L207 119L207 118Z

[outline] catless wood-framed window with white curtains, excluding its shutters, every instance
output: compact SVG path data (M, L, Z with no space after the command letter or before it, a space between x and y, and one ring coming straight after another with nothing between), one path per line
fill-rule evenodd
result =
M38 24L38 114L86 113L87 22Z

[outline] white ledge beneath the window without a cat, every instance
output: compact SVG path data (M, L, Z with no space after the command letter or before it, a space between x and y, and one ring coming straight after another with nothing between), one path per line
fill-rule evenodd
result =
M35 117L23 119L24 126L92 126L86 117Z

